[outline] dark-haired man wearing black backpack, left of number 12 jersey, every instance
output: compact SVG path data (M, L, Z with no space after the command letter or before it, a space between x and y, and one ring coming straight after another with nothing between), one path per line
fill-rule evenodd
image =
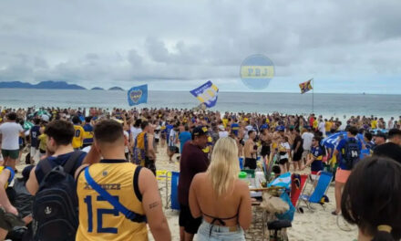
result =
M68 121L51 121L46 126L46 148L54 154L38 162L26 182L28 192L35 195L34 240L75 240L78 224L74 173L86 153L74 151L74 133Z

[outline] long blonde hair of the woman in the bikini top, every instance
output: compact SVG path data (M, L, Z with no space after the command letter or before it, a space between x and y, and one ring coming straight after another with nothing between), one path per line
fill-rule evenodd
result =
M237 142L231 137L219 139L211 153L211 164L206 172L217 194L225 194L240 173Z

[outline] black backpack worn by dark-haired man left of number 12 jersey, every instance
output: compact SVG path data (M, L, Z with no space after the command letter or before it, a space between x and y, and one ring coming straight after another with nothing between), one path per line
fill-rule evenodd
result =
M42 161L46 174L39 185L33 204L33 237L35 241L75 240L78 227L77 185L70 174L82 152L73 152L64 166L52 169Z

